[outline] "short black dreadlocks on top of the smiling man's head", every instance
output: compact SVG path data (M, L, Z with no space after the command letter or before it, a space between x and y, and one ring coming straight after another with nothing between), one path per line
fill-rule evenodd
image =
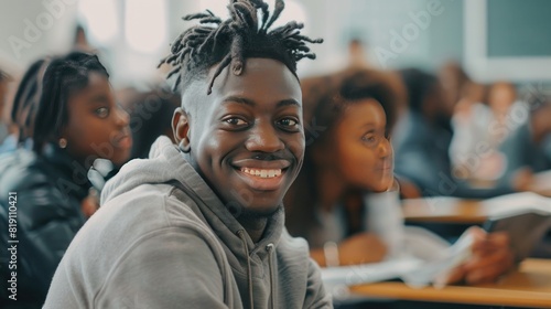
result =
M210 11L184 17L186 21L199 20L199 25L184 31L173 43L171 53L159 66L166 63L173 66L166 78L179 74L173 90L180 84L186 85L194 78L204 77L208 70L218 64L210 79L207 94L210 94L215 78L231 64L231 72L240 75L245 70L245 58L268 57L281 61L296 76L296 62L303 57L315 58L309 43L322 43L301 35L302 23L288 22L270 30L283 11L283 0L276 0L270 15L268 3L262 0L230 0L229 19L223 21ZM260 10L261 23L257 10Z

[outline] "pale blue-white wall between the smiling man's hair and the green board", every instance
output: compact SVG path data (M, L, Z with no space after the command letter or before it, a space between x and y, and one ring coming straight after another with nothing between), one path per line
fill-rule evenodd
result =
M462 1L300 2L309 13L306 33L326 41L315 51L318 58L327 64L322 67L305 66L309 73L342 66L346 57L346 44L352 38L359 38L368 44L366 56L377 67L418 66L434 70L447 60L462 61Z

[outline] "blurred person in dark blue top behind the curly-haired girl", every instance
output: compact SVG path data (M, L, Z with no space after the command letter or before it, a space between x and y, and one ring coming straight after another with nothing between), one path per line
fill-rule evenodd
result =
M449 153L453 106L443 99L435 76L414 68L400 74L409 94L409 110L392 135L397 175L413 182L423 196L487 199L520 190L512 184L479 189L458 180L461 171L452 169Z

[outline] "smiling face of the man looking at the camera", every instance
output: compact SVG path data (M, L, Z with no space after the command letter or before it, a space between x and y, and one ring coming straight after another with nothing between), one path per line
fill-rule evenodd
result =
M207 83L193 97L184 95L203 97L188 118L192 164L230 211L269 215L302 166L299 82L281 62L248 58L240 76L225 68L208 96Z

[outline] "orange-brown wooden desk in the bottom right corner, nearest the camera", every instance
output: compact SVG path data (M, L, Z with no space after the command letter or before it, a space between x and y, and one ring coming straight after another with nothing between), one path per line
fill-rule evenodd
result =
M527 259L496 284L413 289L402 283L378 283L355 286L350 291L402 300L551 308L551 260Z

